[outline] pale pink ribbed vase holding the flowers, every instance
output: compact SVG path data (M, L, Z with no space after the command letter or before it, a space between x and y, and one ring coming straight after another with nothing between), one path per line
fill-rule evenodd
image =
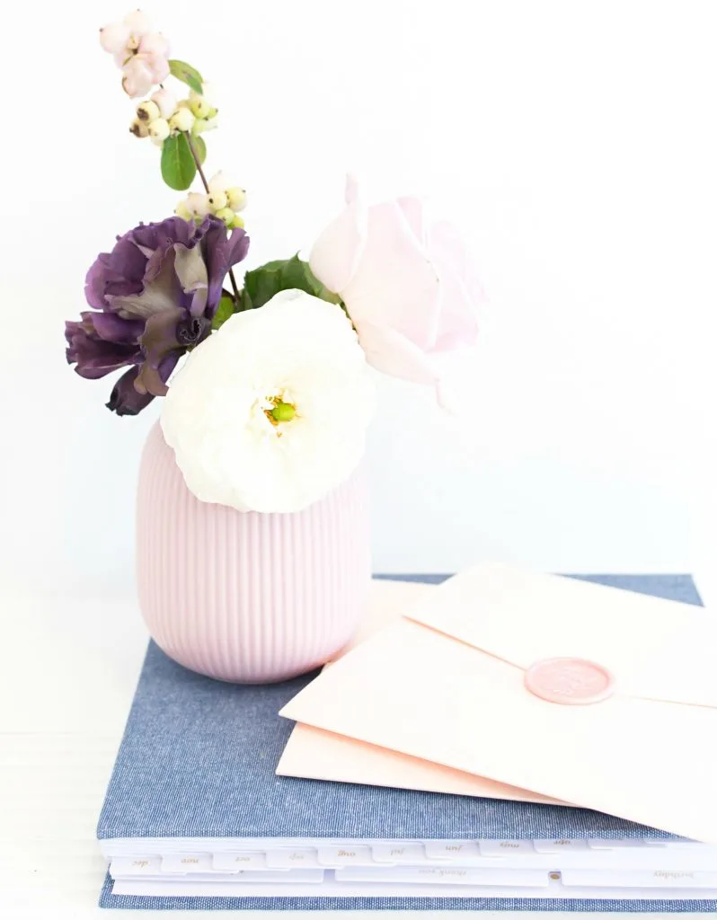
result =
M268 684L352 637L371 579L363 466L304 511L237 512L194 498L158 424L142 455L137 581L145 622L180 664Z

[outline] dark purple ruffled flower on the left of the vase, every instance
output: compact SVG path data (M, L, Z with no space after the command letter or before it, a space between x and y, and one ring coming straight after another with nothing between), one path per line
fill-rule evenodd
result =
M169 217L118 236L87 272L93 309L65 323L67 362L90 380L129 367L107 405L136 415L167 393L180 355L209 335L226 273L248 249L244 230L227 237L216 217L199 226Z

